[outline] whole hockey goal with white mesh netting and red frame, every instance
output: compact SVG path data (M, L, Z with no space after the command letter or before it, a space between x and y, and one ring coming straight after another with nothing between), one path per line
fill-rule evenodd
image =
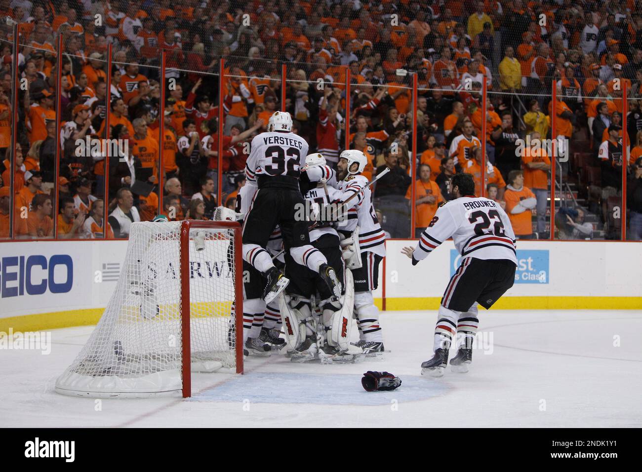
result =
M56 381L72 396L191 396L190 372L243 372L236 222L132 223L103 316Z

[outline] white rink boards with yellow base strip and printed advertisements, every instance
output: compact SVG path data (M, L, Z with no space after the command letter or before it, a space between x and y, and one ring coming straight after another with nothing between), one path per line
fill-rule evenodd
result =
M438 307L460 258L446 241L413 267L401 248L415 244L386 241L374 293L379 308ZM0 243L0 331L95 324L114 293L126 247L127 241ZM642 308L641 249L639 243L618 241L519 241L516 283L494 308ZM229 277L229 271L214 262L193 275L207 286L215 277Z

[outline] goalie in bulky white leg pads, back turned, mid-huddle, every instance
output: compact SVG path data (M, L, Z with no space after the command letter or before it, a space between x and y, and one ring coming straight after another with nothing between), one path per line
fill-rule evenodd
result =
M304 170L315 166L325 166L325 158L320 153L306 157ZM352 274L345 270L340 237L334 228L342 227L347 220L344 215L336 214L338 209L331 206L340 191L328 188L325 182L309 182L309 185L305 182L305 179L300 182L301 191L309 207L314 205L319 216L315 227L309 231L310 241L327 258L344 291L341 301L338 301L320 275L294 263L292 257L286 254L285 274L290 278L290 284L286 288L288 295L281 297L281 313L286 324L284 333L292 349L290 359L293 362L305 362L315 359L318 353L322 363L353 362L355 355L361 353L361 349L350 345L354 285ZM334 216L339 218L336 222L328 218L333 211ZM313 296L316 308L321 312L320 317L313 313Z

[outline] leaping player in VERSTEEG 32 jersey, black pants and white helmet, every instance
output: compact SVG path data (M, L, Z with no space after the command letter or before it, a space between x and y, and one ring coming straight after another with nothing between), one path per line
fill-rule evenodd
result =
M267 279L263 299L270 303L290 282L275 267L266 251L270 235L281 227L283 242L296 263L318 272L334 296L340 296L340 285L327 259L309 240L308 222L295 218L296 205L304 205L299 189L300 168L304 166L308 143L291 132L289 113L275 112L268 131L252 139L247 159L247 181L256 182L245 220L243 221L243 259Z

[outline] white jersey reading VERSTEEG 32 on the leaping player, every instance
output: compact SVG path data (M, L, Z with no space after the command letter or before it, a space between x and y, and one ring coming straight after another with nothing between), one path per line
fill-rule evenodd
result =
M306 164L308 143L294 133L261 133L252 139L250 157L245 164L248 182L259 175L289 175L299 178Z

